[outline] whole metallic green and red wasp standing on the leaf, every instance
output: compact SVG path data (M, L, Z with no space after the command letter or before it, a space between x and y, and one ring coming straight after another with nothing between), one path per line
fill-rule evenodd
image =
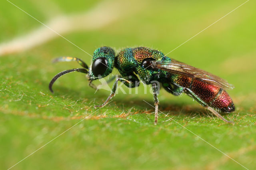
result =
M55 59L55 61L77 61L84 68L70 69L58 73L50 81L50 91L52 91L53 83L66 73L74 71L88 73L89 85L94 87L92 81L106 77L114 67L118 69L120 77L116 78L109 97L102 105L95 107L104 107L110 101L116 93L118 81L129 88L138 87L139 82L142 81L147 85L152 85L156 106L154 123L156 124L161 83L162 87L169 93L175 96L185 93L223 121L233 123L224 119L214 110L218 109L226 113L235 110L232 99L225 91L225 89L232 89L232 85L216 75L171 59L161 51L136 47L125 48L118 55L115 55L112 48L100 47L94 51L90 68L84 61L74 57L61 57Z

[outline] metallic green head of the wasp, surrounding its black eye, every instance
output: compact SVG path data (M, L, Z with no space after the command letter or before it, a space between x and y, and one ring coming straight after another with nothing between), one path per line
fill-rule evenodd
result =
M106 65L103 65L103 66L106 66L106 71L101 75L101 77L106 77L112 72L114 68L115 51L110 47L97 48L93 53L92 64L94 63L95 60L101 57L104 57L107 61ZM101 68L97 68L97 69L101 69ZM90 76L90 79L94 79L94 80L100 78L93 74L92 66L89 70L89 76Z

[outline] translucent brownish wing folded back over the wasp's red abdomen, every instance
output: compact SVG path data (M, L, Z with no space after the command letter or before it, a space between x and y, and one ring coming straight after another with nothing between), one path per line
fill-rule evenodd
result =
M164 71L168 71L172 74L184 75L187 77L192 77L195 79L199 79L200 81L204 81L206 83L216 85L223 89L233 89L234 86L229 84L226 80L208 73L202 69L198 69L182 63L180 61L176 61L172 59L172 61L156 61L152 64L153 67L157 69L161 69Z

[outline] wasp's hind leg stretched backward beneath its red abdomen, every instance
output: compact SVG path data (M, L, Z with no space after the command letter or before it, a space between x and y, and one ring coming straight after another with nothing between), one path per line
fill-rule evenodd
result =
M198 103L200 103L203 107L205 107L206 109L208 109L210 112L212 112L216 117L220 118L222 121L226 122L226 123L231 123L234 124L233 121L228 121L226 120L224 117L222 117L218 112L216 112L212 107L210 107L207 103L205 103L204 101L202 101L202 99L200 99L193 91L191 91L190 89L184 89L184 93L186 93L187 95L189 95L190 97L192 97L193 99L195 99L196 101L198 101Z

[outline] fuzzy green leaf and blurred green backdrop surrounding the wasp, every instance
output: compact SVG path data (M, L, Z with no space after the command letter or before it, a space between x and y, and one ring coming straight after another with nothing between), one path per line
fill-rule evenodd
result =
M88 18L81 19L61 28L76 28L62 36L92 55L103 45L116 51L146 46L168 53L245 1L11 2L49 26L55 23L50 22L56 21L54 18L87 16L94 10L93 14L98 14L99 19L90 15L90 23L84 23ZM4 44L16 42L17 38L34 30L45 29L16 6L6 0L0 2L0 53L5 50ZM190 97L174 97L164 90L159 96L160 111L180 125L160 114L155 126L154 108L143 101L153 105L152 95L144 94L141 85L139 94L132 89L131 95L116 95L106 107L12 169L244 169L196 135L246 168L255 168L255 6L254 1L248 1L168 54L168 57L214 73L235 86L228 93L236 111L224 115L235 121L234 126L213 117ZM116 18L110 20L108 13ZM102 22L106 24L91 29L86 27ZM80 28L80 25L86 26ZM47 30L47 34L55 35L51 30ZM40 36L38 41L46 37ZM92 60L70 42L56 36L16 52L15 49L27 43L13 43L8 53L1 54L0 169L10 168L75 125L96 111L94 105L102 104L108 97L109 91L103 89L94 94L81 73L62 77L54 84L55 93L50 93L48 83L56 73L80 67L76 62L52 64L53 58L74 56L88 65Z

